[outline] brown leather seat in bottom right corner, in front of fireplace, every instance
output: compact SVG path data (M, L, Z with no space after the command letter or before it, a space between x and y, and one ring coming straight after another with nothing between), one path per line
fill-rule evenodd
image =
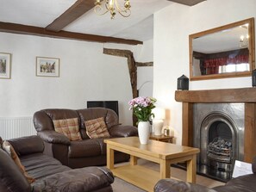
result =
M154 192L256 192L256 158L253 159L252 170L253 174L233 178L213 189L174 179L161 179L154 186Z

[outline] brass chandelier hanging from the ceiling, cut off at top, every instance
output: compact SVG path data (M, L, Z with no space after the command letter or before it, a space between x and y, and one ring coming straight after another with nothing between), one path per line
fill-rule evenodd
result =
M111 19L115 18L116 11L124 17L128 17L129 15L131 15L130 0L124 0L122 8L119 6L118 0L106 0L104 5L101 2L102 0L96 0L95 2L94 12L97 15L104 15L107 12L110 12Z

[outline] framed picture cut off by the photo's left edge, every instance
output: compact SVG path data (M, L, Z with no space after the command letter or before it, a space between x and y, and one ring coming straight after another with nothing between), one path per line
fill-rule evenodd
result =
M10 53L0 53L0 78L10 78Z

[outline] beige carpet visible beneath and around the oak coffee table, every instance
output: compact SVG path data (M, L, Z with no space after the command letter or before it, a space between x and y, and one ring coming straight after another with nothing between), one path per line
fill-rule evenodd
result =
M123 164L128 164L128 163L117 164L116 166L120 166ZM138 164L146 166L152 170L159 171L159 164L155 164L153 162L148 162L144 159L139 159ZM175 177L175 178L185 181L185 178L186 178L185 170L181 170L181 169L172 167L171 172L172 172L172 177ZM203 186L207 186L209 188L224 184L224 183L212 180L208 177L203 177L203 176L199 176L199 175L197 175L197 183L201 184ZM112 184L112 188L113 188L114 192L133 192L133 191L134 192L145 192L145 190L137 188L136 186L134 186L130 183L127 183L118 177L115 177L115 182Z

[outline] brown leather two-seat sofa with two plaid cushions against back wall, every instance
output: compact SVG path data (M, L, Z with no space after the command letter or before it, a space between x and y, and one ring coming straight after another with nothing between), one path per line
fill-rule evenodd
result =
M137 127L119 124L116 113L108 108L43 109L34 113L34 127L45 144L44 153L57 158L71 168L99 166L106 164L105 138L90 139L86 133L84 121L103 117L110 138L129 137L138 134ZM82 140L70 141L64 134L54 131L53 120L78 118ZM129 156L115 152L115 162L128 161Z

